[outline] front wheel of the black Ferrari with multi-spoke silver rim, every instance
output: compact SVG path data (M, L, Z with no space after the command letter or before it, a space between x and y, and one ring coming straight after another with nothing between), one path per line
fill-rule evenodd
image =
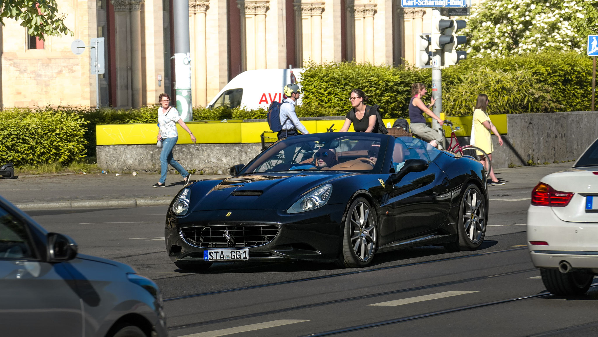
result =
M376 211L365 198L357 198L344 218L343 247L338 262L346 268L365 267L376 253Z

